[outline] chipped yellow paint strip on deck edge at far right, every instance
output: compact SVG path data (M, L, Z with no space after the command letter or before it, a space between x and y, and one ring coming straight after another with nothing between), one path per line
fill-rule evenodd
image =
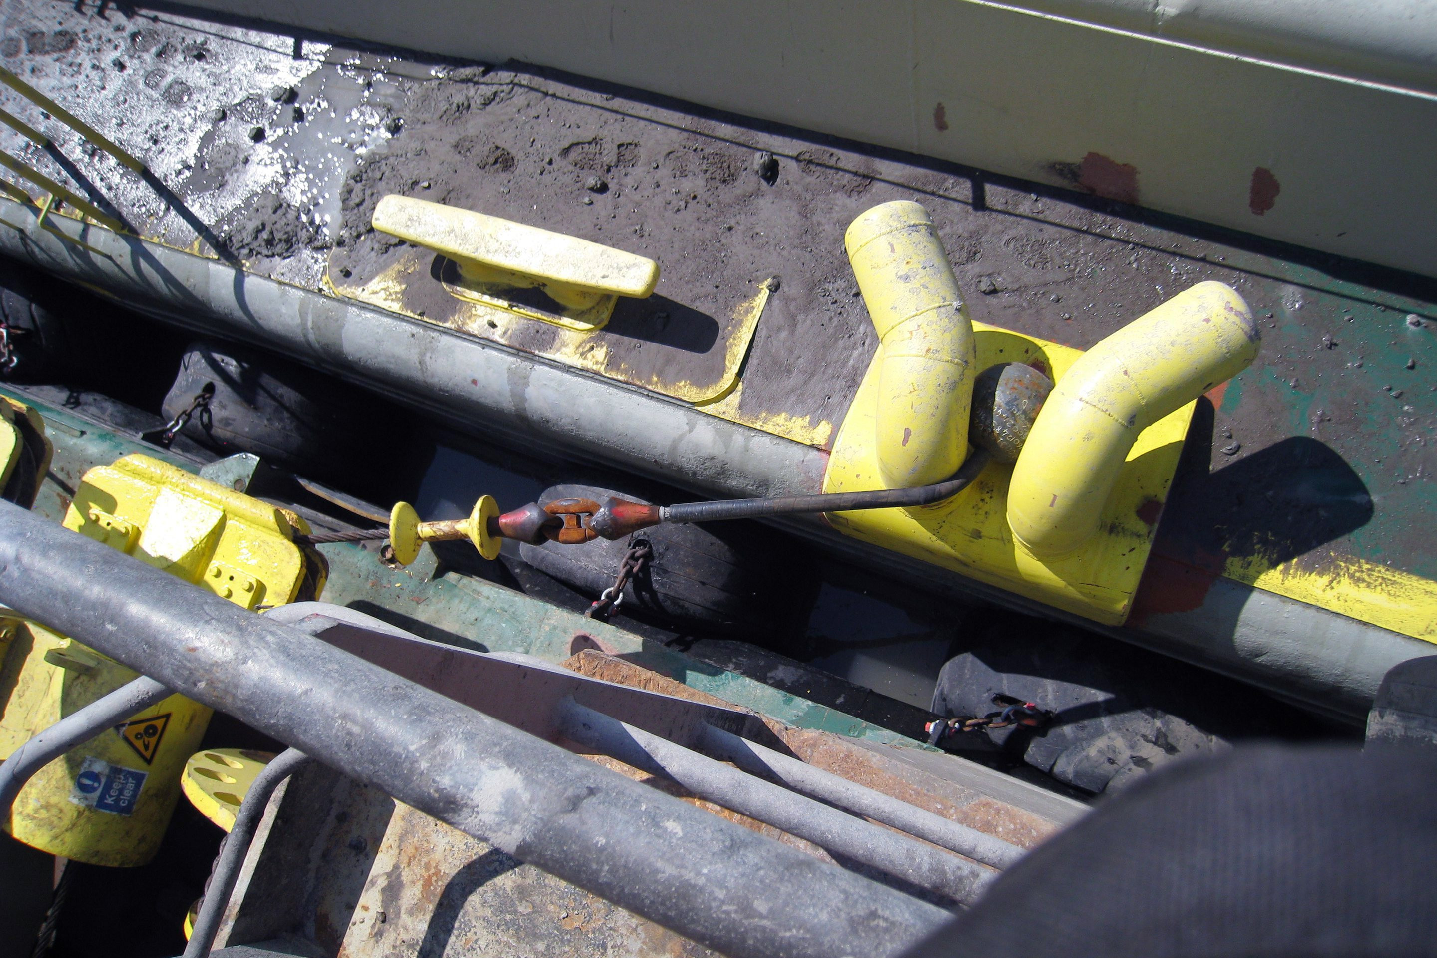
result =
M1437 642L1437 582L1348 556L1305 569L1302 559L1272 563L1260 553L1229 559L1223 575L1349 619Z

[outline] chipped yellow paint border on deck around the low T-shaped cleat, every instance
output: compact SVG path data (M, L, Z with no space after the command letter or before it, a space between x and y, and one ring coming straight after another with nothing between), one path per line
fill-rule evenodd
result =
M566 366L595 372L609 379L651 389L696 405L718 402L737 388L743 361L749 355L749 346L753 343L753 333L763 317L764 306L767 306L769 296L772 294L767 283L759 283L753 296L739 304L727 323L729 338L724 346L721 373L713 382L691 382L688 379L665 378L661 373L638 373L628 365L624 356L615 352L611 340L604 339L605 335L612 336L612 333L605 333L604 330L585 332L565 329L553 323L542 323L550 330L547 345L543 348L520 345L516 342L519 333L540 320L519 316L476 299L454 297L454 309L448 316L420 316L408 307L405 293L411 283L434 282L428 274L428 260L431 259L433 253L427 250L411 250L401 254L397 263L368 282L336 282L326 271L325 284L336 296L355 299L391 313L444 326L477 339L494 340L514 346L516 349L525 349L536 356L543 356Z

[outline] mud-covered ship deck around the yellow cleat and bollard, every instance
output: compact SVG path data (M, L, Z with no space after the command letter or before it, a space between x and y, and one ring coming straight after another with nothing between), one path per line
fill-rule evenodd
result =
M1322 570L1346 556L1437 577L1430 282L514 65L40 0L4 3L0 62L172 194L53 124L52 154L4 131L7 149L52 175L83 169L145 234L300 286L320 289L331 257L336 273L372 274L402 253L368 228L385 192L657 260L670 327L609 335L635 358L670 348L697 362L721 346L704 317L777 276L731 418L821 447L875 346L842 250L874 204L930 210L974 320L1065 345L1088 348L1193 283L1229 283L1262 317L1263 352L1200 409L1158 552L1214 575L1233 557Z

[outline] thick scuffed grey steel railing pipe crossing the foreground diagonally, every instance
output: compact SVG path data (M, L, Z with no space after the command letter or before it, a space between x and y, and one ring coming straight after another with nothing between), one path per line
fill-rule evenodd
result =
M895 955L948 919L3 501L0 602L726 955Z

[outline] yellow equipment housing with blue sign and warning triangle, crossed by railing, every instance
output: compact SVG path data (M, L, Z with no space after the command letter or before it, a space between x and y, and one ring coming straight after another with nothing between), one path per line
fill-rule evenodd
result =
M315 597L323 570L293 543L302 518L145 455L85 474L66 529L254 609ZM135 672L33 623L0 668L10 689L0 757ZM46 766L16 799L7 830L93 865L137 866L160 847L185 760L210 710L182 695L131 717Z

